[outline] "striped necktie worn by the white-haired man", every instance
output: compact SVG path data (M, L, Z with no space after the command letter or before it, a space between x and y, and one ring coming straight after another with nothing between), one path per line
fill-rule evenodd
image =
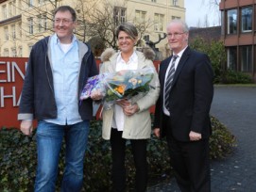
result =
M173 61L171 63L171 67L170 70L167 74L167 78L165 81L165 95L164 95L164 106L165 108L167 108L169 110L169 96L170 96L170 90L172 87L172 82L173 82L173 77L174 77L174 73L175 73L175 61L177 59L177 55L173 56Z

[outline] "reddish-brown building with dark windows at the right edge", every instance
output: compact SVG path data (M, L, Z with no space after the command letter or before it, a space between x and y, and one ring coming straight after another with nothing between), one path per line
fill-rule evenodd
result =
M222 0L221 37L227 49L227 66L246 72L256 81L256 1Z

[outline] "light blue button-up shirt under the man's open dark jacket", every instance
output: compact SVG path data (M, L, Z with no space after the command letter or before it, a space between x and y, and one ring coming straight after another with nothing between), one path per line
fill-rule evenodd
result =
M60 125L75 124L82 121L78 113L77 97L80 69L77 38L73 37L72 43L65 53L55 34L50 40L50 52L58 118L45 121Z

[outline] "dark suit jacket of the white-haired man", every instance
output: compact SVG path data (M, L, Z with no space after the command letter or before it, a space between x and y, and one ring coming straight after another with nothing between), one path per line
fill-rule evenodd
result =
M210 108L213 100L213 69L208 56L189 47L179 59L179 64L170 90L170 118L163 123L163 88L166 69L171 56L162 60L159 78L160 98L156 104L154 127L166 130L179 141L189 141L190 131L208 138L212 133Z

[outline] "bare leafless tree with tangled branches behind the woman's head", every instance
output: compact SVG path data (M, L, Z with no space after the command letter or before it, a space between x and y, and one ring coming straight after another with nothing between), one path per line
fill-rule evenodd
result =
M102 46L109 46L117 49L117 43L115 38L115 29L118 24L125 22L130 22L136 25L139 32L139 40L141 42L145 33L148 33L148 28L153 24L153 22L148 21L138 21L136 18L127 14L126 1L112 1L104 0L102 7L92 8L90 16L90 24L88 24L88 34L91 38L98 38L105 42ZM122 11L125 17L122 17ZM121 14L121 16L120 16Z

